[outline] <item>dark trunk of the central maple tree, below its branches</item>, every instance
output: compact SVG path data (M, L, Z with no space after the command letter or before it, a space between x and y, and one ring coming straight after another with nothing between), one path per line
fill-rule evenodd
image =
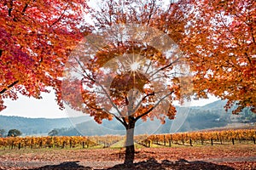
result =
M126 141L125 141L125 164L133 164L134 161L134 127L135 122L130 122L130 124L126 127Z

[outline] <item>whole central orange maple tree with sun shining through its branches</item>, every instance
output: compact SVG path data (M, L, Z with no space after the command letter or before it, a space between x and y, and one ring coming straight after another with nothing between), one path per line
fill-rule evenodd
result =
M73 51L62 81L67 105L96 122L116 118L124 125L127 164L134 160L136 122L174 118L172 101L183 102L191 88L188 65L173 41L183 35L183 5L162 3L98 3L90 14L94 29L103 31L85 37Z

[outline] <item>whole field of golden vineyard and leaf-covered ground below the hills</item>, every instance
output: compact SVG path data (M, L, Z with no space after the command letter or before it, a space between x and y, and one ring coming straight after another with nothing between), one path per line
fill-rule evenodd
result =
M137 136L133 169L256 169L255 130L168 135ZM5 140L0 169L126 168L120 136Z

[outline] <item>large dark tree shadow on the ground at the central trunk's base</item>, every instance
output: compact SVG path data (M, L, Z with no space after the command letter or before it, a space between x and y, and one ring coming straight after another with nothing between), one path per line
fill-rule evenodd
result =
M215 163L207 161L186 161L180 159L178 161L156 161L154 158L148 159L148 161L139 161L134 163L132 166L127 166L124 164L119 164L114 167L109 167L108 170L118 170L118 169L154 169L154 170L163 170L163 169L206 169L206 170L231 170L233 167L228 167L224 165L218 165Z

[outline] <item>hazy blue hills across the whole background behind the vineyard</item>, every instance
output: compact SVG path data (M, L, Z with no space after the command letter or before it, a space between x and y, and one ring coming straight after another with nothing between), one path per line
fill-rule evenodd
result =
M256 122L256 114L245 109L239 116L234 116L231 111L224 111L225 104L226 101L218 100L204 106L177 107L177 118L166 119L163 125L159 120L139 120L135 134L176 133L224 127L230 122ZM125 134L125 127L115 119L98 124L90 116L58 119L0 116L0 129L8 132L11 128L20 130L24 135L47 134L53 129L57 129L59 135L67 136Z

